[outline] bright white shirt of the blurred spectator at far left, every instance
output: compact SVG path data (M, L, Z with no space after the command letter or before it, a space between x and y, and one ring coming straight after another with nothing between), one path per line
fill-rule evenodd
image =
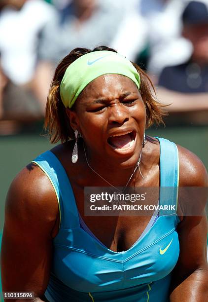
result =
M43 0L3 0L0 12L1 66L15 84L26 84L34 76L38 35L53 7Z

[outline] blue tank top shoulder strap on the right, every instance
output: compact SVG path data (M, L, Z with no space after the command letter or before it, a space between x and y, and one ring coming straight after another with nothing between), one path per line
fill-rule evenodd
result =
M161 210L159 215L176 214L179 159L177 146L164 138L158 138L160 143L160 205L173 206L172 210Z

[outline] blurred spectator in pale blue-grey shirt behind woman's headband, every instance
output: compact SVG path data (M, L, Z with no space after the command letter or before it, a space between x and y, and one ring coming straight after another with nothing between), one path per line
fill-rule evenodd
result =
M69 0L57 11L43 30L39 47L34 83L43 106L57 63L73 48L110 45L124 15L123 4L111 0Z

